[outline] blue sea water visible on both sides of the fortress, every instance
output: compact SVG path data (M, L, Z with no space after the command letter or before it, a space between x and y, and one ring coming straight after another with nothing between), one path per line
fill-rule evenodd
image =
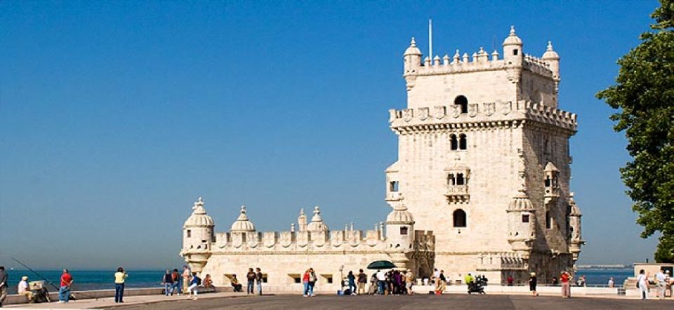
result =
M48 280L55 286L59 285L60 270L7 270L8 283L19 283L22 276L28 276L28 281ZM160 288L165 270L127 270L126 288ZM72 290L105 290L114 289L114 270L70 270L73 278ZM606 286L609 278L613 277L616 286L634 276L634 269L579 269L576 279L584 275L588 286ZM17 285L9 285L10 294L16 293ZM53 292L53 286L47 284L47 290Z

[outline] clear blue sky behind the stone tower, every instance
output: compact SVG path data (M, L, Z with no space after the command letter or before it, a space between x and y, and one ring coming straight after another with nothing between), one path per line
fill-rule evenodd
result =
M385 219L388 109L402 53L524 52L552 40L588 244L581 263L652 257L618 168L626 140L594 94L656 1L2 1L0 264L173 267L192 202L225 231L248 206L286 230L321 205L333 229Z

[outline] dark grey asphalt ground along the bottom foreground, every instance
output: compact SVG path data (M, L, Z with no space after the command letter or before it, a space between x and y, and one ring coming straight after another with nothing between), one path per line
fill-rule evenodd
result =
M674 301L529 295L350 296L265 295L176 300L114 309L674 309Z

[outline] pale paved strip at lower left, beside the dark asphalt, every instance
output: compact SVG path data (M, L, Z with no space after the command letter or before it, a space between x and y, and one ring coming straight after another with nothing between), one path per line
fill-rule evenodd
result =
M215 292L199 295L199 299L229 299L232 297L246 297L246 294L234 292ZM164 295L143 295L143 296L129 296L124 297L123 304L115 304L114 297L103 297L98 299L79 299L67 304L59 304L57 302L44 304L11 304L4 306L5 308L31 308L31 309L97 309L97 308L116 308L118 306L125 306L128 308L136 308L141 304L143 306L152 307L153 304L161 302L164 304L173 304L173 302L192 302L192 297L187 295L180 296L164 296ZM159 306L157 306L159 309Z

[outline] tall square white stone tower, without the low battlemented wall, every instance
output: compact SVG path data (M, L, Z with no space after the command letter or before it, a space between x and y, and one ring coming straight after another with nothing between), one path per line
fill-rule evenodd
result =
M549 281L573 271L583 244L569 189L576 115L557 109L560 57L549 42L543 58L523 47L511 27L502 59L480 48L422 62L414 39L404 52L407 108L390 110L399 153L386 200L404 195L451 278L536 271Z

